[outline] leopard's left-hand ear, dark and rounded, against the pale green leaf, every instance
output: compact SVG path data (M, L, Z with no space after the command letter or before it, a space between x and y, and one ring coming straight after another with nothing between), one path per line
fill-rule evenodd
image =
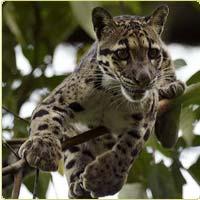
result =
M110 13L101 7L93 9L92 23L96 36L99 40L101 40L103 35L109 33L109 29L112 29L114 25L114 21Z

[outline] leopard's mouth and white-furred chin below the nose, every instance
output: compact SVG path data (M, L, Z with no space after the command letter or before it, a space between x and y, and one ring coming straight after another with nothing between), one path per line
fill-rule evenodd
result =
M147 90L145 89L135 89L125 85L121 86L121 92L124 95L124 97L130 102L142 100L146 97L147 94Z

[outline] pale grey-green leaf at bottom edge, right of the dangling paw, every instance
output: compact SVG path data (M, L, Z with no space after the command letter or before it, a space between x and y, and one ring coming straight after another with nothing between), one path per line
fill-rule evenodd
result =
M146 199L147 194L141 183L125 184L118 194L119 199Z

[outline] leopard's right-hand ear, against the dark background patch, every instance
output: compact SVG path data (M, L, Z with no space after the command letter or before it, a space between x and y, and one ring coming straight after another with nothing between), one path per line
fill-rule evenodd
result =
M167 5L162 5L156 8L153 13L146 18L147 23L151 25L159 35L161 35L164 29L168 13L169 7Z

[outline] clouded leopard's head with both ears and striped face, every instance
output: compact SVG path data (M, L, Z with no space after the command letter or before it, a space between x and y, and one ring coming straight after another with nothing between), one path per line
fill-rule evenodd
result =
M101 7L92 12L98 65L107 83L118 82L131 102L145 98L156 86L165 53L160 36L167 15L165 5L146 17L112 17Z

